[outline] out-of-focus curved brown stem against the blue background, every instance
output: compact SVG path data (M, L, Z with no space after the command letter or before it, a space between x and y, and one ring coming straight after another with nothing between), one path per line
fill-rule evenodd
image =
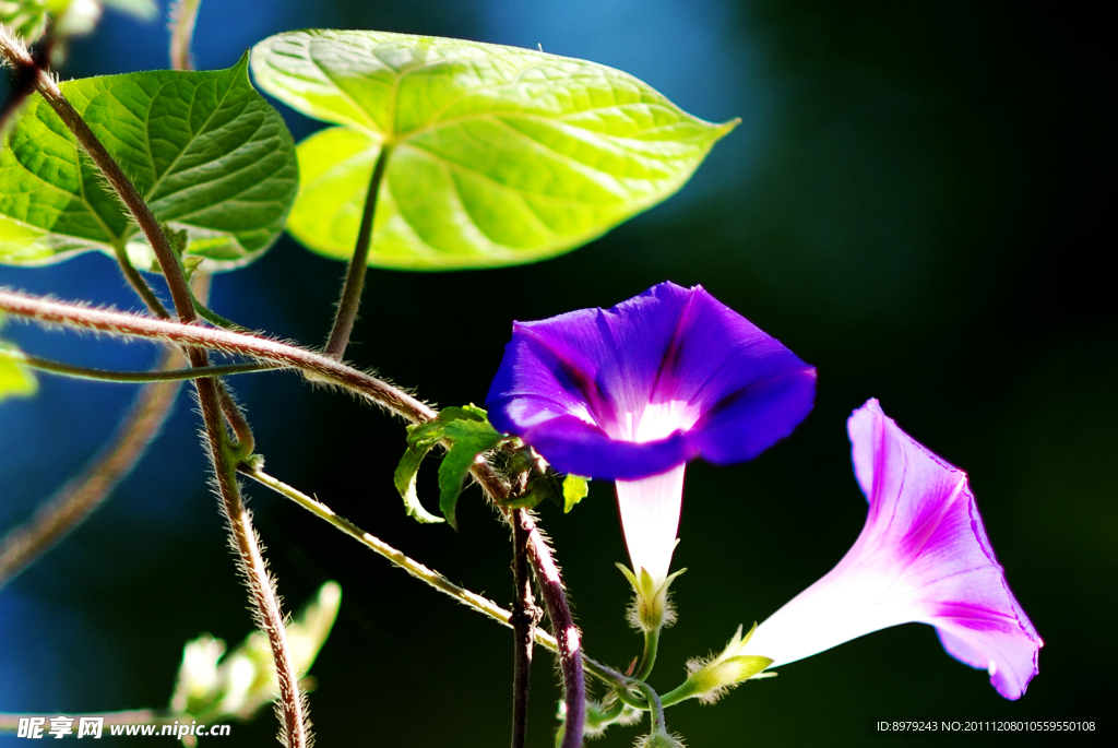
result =
M159 370L181 367L182 354L170 349ZM106 447L76 477L59 489L35 515L0 540L0 587L54 548L108 498L113 487L139 464L171 413L181 381L144 387Z

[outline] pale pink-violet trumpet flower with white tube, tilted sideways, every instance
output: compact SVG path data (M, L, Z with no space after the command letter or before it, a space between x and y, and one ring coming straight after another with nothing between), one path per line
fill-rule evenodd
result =
M1006 699L1038 673L1043 645L994 557L963 471L885 417L871 399L847 423L870 504L834 569L755 632L748 654L773 667L903 623L936 627L948 654L989 671Z

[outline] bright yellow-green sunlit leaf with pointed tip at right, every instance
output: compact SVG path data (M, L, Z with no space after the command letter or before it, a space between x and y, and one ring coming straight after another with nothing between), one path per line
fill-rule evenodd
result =
M380 149L369 264L492 267L572 249L678 190L736 123L693 117L604 65L380 31L291 31L253 48L264 91L341 125L299 146L288 230L353 254Z

